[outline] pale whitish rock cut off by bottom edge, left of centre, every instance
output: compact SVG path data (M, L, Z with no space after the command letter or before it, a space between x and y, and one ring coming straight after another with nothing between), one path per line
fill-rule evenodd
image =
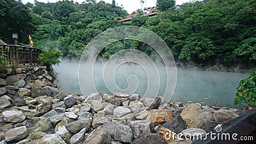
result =
M46 134L38 144L66 144L58 134Z

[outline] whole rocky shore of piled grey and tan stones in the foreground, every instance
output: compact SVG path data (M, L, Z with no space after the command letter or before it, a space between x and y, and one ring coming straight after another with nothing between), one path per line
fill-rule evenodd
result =
M58 92L46 67L0 74L0 143L192 143L166 134L210 132L241 109L164 102L132 94Z

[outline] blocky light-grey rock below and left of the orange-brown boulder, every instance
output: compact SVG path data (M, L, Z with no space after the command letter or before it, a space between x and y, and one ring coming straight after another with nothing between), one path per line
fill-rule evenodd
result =
M141 134L146 132L154 132L154 124L151 120L136 120L131 122L131 129L134 138L138 138Z

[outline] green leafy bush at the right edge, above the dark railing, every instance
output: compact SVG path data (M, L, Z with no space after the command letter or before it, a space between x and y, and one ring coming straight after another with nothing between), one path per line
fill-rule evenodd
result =
M242 79L238 84L234 103L256 106L256 68L249 77Z

